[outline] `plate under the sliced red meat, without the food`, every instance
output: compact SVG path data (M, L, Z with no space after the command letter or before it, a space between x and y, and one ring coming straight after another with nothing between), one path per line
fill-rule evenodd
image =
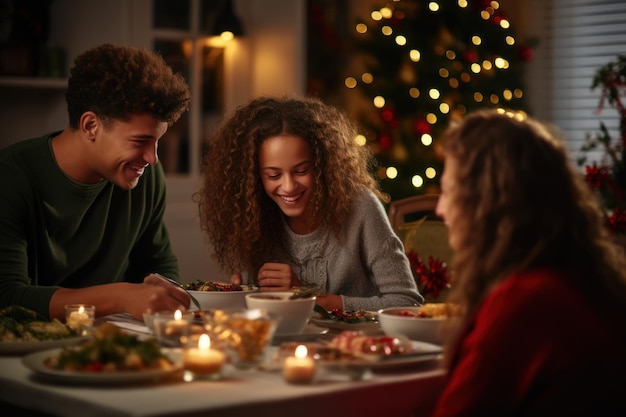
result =
M389 370L416 365L422 362L438 360L441 356L441 346L426 342L411 341L413 352L406 355L387 356L379 361L367 359L321 360L322 366L331 370Z

